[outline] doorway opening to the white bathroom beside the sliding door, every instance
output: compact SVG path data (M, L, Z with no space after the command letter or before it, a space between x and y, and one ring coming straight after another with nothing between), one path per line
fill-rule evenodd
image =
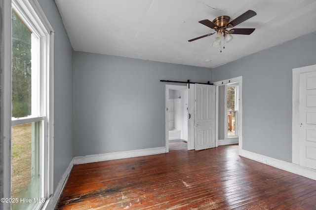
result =
M182 148L188 142L187 86L166 85L166 152Z

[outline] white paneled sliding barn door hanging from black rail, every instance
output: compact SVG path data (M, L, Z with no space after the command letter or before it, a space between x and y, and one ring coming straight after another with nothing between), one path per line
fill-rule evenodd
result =
M195 84L196 150L215 147L215 90L215 85Z

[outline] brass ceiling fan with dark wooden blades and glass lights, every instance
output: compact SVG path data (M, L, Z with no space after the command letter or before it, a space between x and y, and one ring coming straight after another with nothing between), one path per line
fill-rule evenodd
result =
M250 35L255 29L231 29L228 30L228 28L233 28L237 26L238 24L248 20L249 18L255 16L257 13L252 10L248 10L245 13L241 14L239 17L235 18L230 22L229 16L219 16L215 18L213 21L210 21L208 19L198 21L199 23L214 29L215 32L207 35L198 36L196 38L190 39L188 41L194 41L206 36L210 36L216 33L215 40L213 42L213 46L221 45L222 40L225 40L226 42L229 42L233 36L231 34L236 35Z

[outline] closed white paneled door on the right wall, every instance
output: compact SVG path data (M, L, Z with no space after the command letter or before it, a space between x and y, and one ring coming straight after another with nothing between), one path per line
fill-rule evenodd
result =
M316 169L316 66L300 74L300 165Z

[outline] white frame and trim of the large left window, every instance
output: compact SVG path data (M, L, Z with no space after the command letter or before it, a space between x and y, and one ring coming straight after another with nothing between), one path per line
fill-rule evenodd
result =
M20 125L30 122L42 121L43 132L43 167L42 167L42 196L45 198L44 203L37 206L38 209L45 208L53 195L53 134L54 134L54 72L53 72L53 42L54 32L37 0L12 0L12 8L23 19L25 24L31 29L32 41L39 43L40 52L32 51L32 65L37 65L40 69L40 83L33 84L40 89L39 95L43 99L40 107L38 103L32 103L33 110L40 110L37 113L32 112L30 116L21 118L12 118L11 126ZM9 33L8 33L9 34ZM10 33L11 35L11 33ZM11 37L11 36L10 36ZM36 57L34 56L36 55ZM34 62L36 61L36 62ZM11 80L10 80L11 81ZM9 84L11 88L11 83ZM8 87L7 87L8 89ZM32 90L33 92L33 90ZM32 102L39 99L39 95L32 94ZM33 98L34 97L34 98ZM11 148L11 143L10 143ZM11 150L10 150L11 151ZM8 155L6 155L6 158ZM11 163L10 159L4 159L5 162ZM11 171L11 170L10 170ZM11 181L10 181L11 183ZM11 186L4 186L6 191L9 189L11 195Z

